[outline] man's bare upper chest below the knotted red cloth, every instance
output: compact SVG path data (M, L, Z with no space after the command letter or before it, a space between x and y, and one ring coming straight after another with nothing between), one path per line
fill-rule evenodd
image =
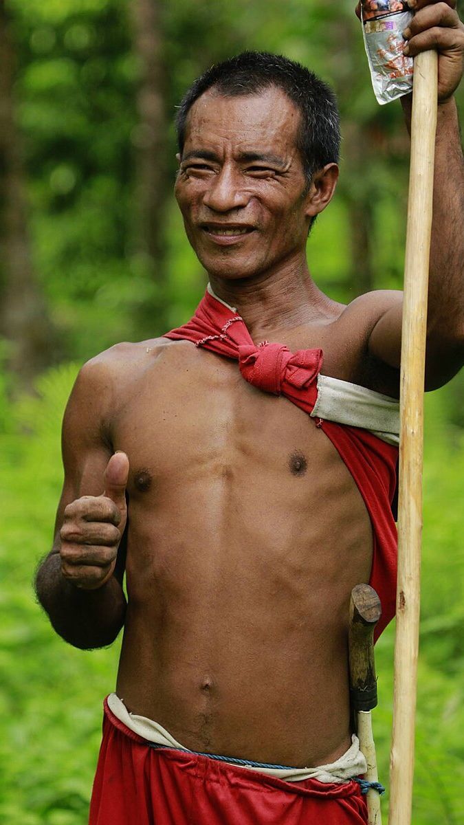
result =
M183 342L135 375L111 441L129 456L135 494L212 479L236 490L285 488L303 503L311 489L349 475L307 413L248 384L236 361Z

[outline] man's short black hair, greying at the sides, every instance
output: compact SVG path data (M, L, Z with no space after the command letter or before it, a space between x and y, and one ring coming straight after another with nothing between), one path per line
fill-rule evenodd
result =
M270 86L282 89L300 111L297 148L306 180L310 182L326 163L338 163L340 118L332 89L294 60L282 54L257 51L245 51L215 64L192 83L182 98L176 120L180 153L188 112L208 89L214 88L225 97L239 97L259 94Z

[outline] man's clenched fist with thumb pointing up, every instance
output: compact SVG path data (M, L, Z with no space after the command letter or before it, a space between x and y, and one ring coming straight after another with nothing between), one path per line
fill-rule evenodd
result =
M127 521L125 488L129 459L115 453L103 474L101 496L83 496L64 510L59 532L61 571L83 590L97 590L112 576Z

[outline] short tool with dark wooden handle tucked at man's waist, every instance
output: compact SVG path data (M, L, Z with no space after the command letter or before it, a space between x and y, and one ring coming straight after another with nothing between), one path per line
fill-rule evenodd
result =
M350 704L369 782L378 782L371 710L377 704L374 629L380 617L381 601L376 591L368 584L353 587L348 625ZM369 825L381 825L380 795L372 788L367 791L367 814Z

